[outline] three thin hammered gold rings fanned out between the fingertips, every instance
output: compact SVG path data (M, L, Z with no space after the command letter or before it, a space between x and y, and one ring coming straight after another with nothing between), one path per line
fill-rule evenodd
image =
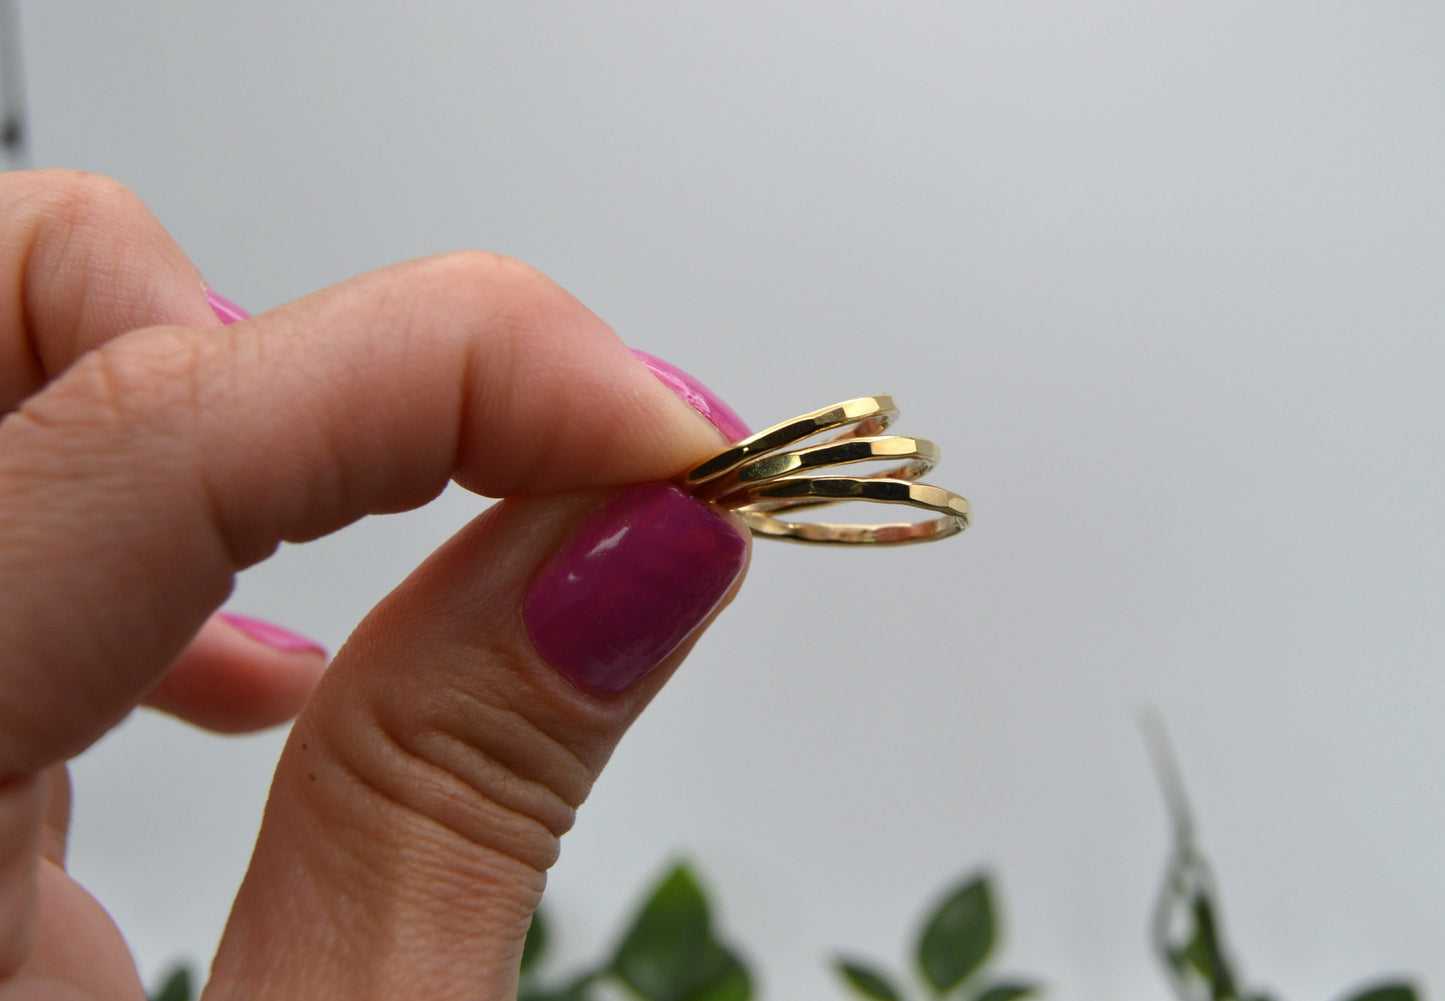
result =
M861 396L773 425L714 455L683 475L695 497L737 511L756 536L793 542L871 543L932 542L968 527L968 501L918 482L938 465L933 442L880 435L899 416L890 396ZM815 435L844 430L818 445ZM795 448L802 445L802 448ZM848 477L819 469L853 462L889 462L876 475ZM907 504L938 517L926 521L829 524L792 521L786 516L847 501Z

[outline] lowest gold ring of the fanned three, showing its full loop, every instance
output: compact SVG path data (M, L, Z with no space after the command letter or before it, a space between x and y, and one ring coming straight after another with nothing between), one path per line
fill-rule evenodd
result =
M968 527L968 501L958 494L907 480L881 477L785 477L747 491L753 501L737 507L754 534L795 542L897 545L932 542L958 534ZM928 521L890 521L883 524L832 524L789 521L773 511L806 504L876 501L907 504L939 514Z

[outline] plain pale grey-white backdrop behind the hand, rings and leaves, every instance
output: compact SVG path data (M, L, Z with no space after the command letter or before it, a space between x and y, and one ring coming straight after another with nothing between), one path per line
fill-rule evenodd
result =
M769 998L1001 881L1004 966L1160 998L1178 744L1247 979L1445 984L1445 14L1423 3L25 4L36 160L114 175L262 311L487 247L754 426L890 391L975 527L760 545L549 904L598 955L696 859ZM332 647L483 501L282 552ZM74 870L204 959L282 735L143 716Z

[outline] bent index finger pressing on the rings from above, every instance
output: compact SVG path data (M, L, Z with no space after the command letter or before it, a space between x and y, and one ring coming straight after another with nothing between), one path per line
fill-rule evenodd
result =
M280 542L449 477L660 480L721 443L575 299L490 254L123 335L0 422L0 777L100 737Z

